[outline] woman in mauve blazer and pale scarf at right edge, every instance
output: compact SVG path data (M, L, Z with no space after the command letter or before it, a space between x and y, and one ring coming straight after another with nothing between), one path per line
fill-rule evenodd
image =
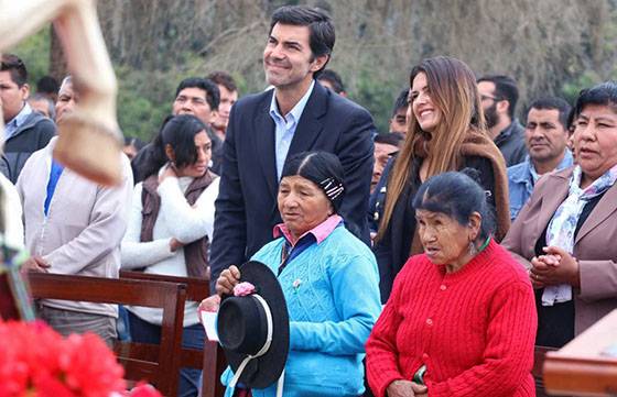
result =
M578 165L538 181L502 242L535 288L535 344L555 348L617 308L617 84L574 111Z

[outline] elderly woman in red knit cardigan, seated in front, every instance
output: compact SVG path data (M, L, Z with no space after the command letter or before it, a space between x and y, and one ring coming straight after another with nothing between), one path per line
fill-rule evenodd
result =
M445 173L420 187L413 206L424 254L397 276L367 342L372 392L535 396L533 291L490 236L486 192L463 173Z

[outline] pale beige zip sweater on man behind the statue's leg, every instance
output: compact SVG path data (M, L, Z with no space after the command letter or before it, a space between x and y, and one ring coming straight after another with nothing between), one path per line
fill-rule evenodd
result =
M47 216L43 207L52 165L54 137L25 163L17 183L25 228L25 247L51 264L50 273L117 278L120 242L127 229L133 179L121 155L120 186L104 187L65 168ZM118 316L115 305L44 300L57 309Z

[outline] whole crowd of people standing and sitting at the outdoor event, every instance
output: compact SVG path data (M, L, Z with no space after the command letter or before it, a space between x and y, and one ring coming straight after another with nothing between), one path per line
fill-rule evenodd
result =
M266 38L264 91L239 98L225 71L183 79L152 142L126 140L111 187L52 156L78 85L31 93L3 54L4 244L30 252L23 271L209 277L212 308L259 261L289 311L285 396L534 396L534 344L561 348L617 308L617 82L573 106L538 98L521 123L513 78L436 56L378 132L326 68L326 13L282 7ZM160 341L160 311L125 309L130 338ZM118 338L116 306L37 310L63 334ZM183 326L201 349L196 304ZM198 381L183 368L178 395Z

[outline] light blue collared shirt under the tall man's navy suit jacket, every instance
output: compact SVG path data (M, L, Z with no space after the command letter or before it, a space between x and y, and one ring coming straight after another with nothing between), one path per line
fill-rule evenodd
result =
M291 140L297 128L297 122L302 117L302 112L306 107L308 97L313 92L313 87L315 86L315 80L311 81L311 86L306 90L306 93L300 100L293 109L285 114L283 118L279 111L279 106L277 104L277 92L272 92L272 102L270 102L270 117L274 120L277 130L274 131L274 152L277 155L277 177L281 179L281 174L283 173L283 165L285 164L285 158L288 157L289 148L291 146Z

